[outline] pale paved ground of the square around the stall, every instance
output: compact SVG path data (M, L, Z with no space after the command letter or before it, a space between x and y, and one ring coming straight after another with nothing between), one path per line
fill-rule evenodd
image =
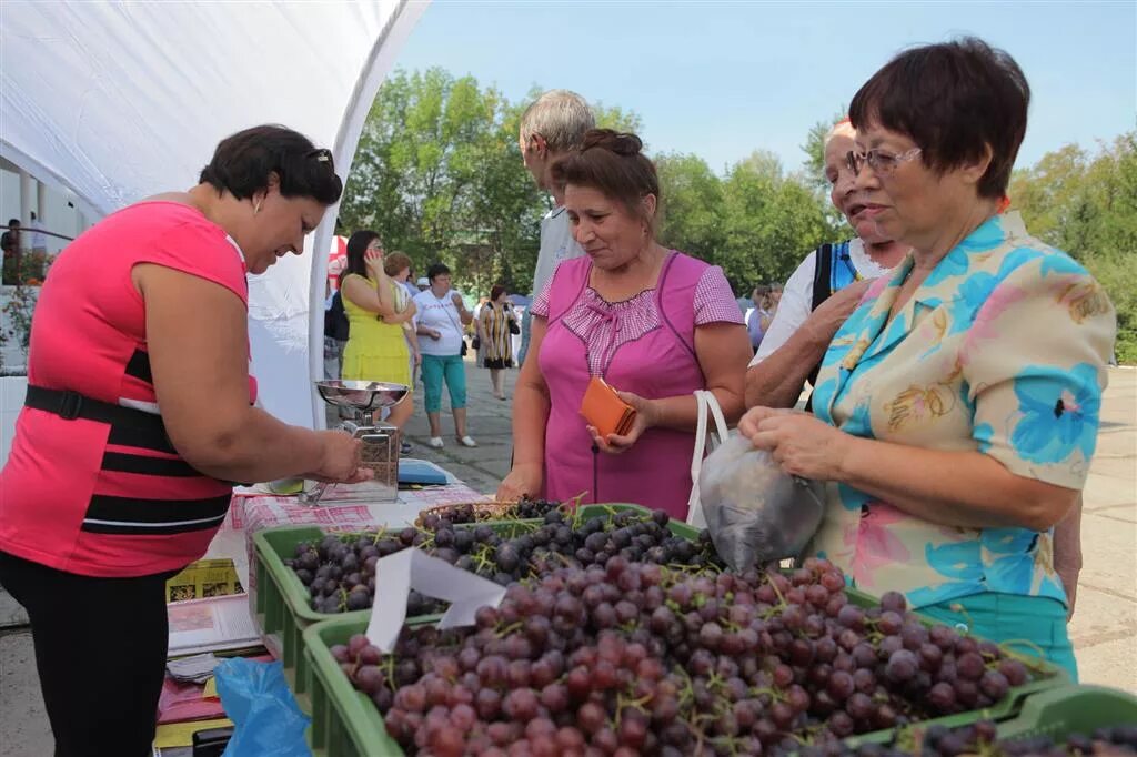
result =
M426 447L422 409L407 429L413 456L434 460L473 489L492 494L509 469L509 402L493 398L487 371L467 364L470 433L476 449L454 438L443 417L446 448ZM516 372L511 372L512 396ZM1078 608L1070 626L1084 683L1137 693L1137 371L1110 373L1102 407L1097 456L1085 492L1082 521L1085 568ZM6 613L0 592L0 625ZM10 600L9 600L10 601ZM8 607L10 610L10 606ZM0 757L51 754L26 629L0 631Z

